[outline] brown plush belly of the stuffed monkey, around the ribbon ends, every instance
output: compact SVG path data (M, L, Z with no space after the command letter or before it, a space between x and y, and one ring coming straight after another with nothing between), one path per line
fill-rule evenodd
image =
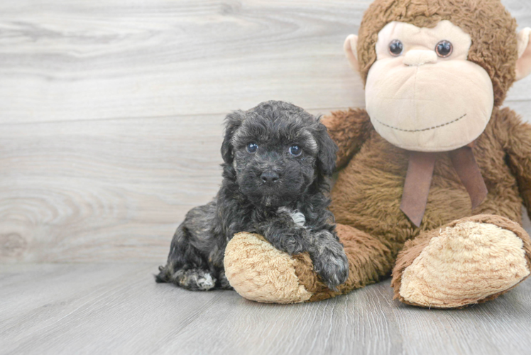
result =
M372 146L372 145L371 145ZM365 148L365 147L364 147ZM373 146L374 148L374 146ZM478 163L483 160L478 158ZM500 163L503 164L503 163ZM507 170L507 166L496 167ZM393 251L420 231L430 230L473 214L498 214L520 222L521 199L515 180L486 183L489 194L474 211L464 186L447 158L437 160L420 228L400 210L407 153L395 149L363 149L341 170L332 190L331 211L336 222L376 236ZM499 170L498 170L499 171Z

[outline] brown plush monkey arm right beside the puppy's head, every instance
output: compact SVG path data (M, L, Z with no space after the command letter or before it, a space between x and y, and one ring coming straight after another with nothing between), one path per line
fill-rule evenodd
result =
M329 135L339 147L336 158L337 170L349 163L373 131L371 119L364 109L334 111L324 116L321 121L327 126Z

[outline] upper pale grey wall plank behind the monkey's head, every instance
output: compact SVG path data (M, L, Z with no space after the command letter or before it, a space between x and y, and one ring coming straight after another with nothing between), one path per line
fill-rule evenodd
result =
M362 107L342 53L371 1L4 1L0 124ZM531 26L524 0L504 3ZM531 79L508 104L531 99ZM526 110L528 111L528 110Z

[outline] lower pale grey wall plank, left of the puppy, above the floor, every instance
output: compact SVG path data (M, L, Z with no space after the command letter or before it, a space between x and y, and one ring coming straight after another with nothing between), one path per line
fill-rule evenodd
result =
M219 188L223 118L4 126L0 261L163 261Z

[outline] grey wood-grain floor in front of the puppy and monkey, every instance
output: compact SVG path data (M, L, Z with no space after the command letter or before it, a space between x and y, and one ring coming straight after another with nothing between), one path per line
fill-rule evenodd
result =
M0 266L0 354L529 354L531 280L465 310L389 281L302 305L155 284L150 263Z

